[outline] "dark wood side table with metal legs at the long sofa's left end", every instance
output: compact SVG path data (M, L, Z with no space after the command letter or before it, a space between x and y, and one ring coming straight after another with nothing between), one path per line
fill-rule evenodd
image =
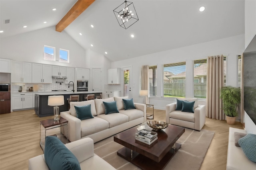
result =
M54 121L54 119L40 121L40 147L42 148L43 152L46 136L56 136L60 139L60 141L62 141L62 136L63 138L66 138L61 133L62 126L66 126L66 134L68 135L68 121L66 119L60 117L60 120L58 121ZM50 129L52 129L52 131L49 131ZM62 142L64 143L64 141ZM66 138L66 143L68 143L68 138Z

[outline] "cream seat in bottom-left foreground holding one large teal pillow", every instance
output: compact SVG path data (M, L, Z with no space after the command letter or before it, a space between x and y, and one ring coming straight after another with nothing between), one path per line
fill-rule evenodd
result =
M94 142L90 138L80 139L65 145L78 159L82 170L115 170L113 166L94 154ZM49 170L44 154L28 160L29 170Z

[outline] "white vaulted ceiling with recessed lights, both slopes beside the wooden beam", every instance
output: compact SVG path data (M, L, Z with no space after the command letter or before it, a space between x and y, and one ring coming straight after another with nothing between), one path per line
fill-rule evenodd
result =
M128 29L119 26L113 12L123 2L96 0L64 31L84 49L92 49L111 61L244 34L244 0L131 0L139 20ZM75 3L0 0L0 30L4 31L0 36L7 38L55 26ZM204 12L199 12L201 6ZM8 19L10 23L4 24Z

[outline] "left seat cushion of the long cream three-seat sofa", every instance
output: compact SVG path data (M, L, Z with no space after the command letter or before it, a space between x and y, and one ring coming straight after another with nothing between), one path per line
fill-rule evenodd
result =
M109 123L99 117L93 119L84 119L81 121L81 137L91 135L93 133L108 129Z

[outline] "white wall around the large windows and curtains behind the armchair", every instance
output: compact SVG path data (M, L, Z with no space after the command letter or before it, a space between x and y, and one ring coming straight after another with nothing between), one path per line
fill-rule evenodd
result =
M132 66L132 79L134 88L132 96L135 102L143 102L143 98L139 97L140 69L142 65L153 66L157 64L157 97L150 98L150 104L154 104L156 109L165 109L166 104L176 102L174 99L163 98L162 96L162 64L177 63L186 61L186 74L192 75L193 61L196 59L206 59L212 55L227 56L227 85L237 86L237 55L244 52L244 34L182 47L178 49L162 51L150 55L117 61L111 63L111 68L122 68ZM189 71L191 70L191 71ZM193 78L186 79L186 97L193 96L191 84ZM200 104L205 104L204 100L200 100Z

